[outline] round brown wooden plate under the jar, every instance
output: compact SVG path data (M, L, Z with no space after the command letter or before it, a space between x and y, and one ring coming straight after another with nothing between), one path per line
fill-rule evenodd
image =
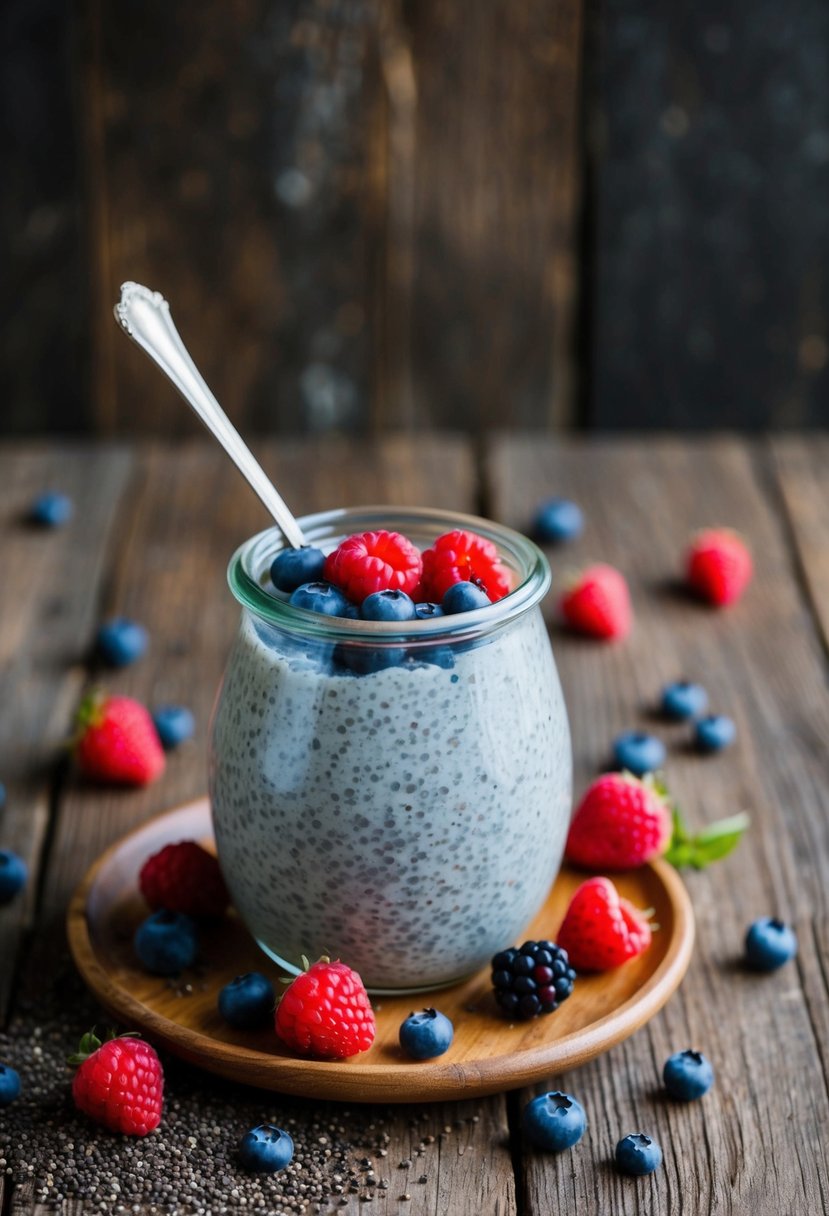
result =
M69 946L86 984L119 1021L156 1046L246 1085L344 1102L432 1102L514 1088L582 1064L633 1034L667 1001L690 959L694 917L688 895L671 866L654 862L615 879L633 903L655 910L660 929L653 945L613 972L580 976L556 1013L529 1023L506 1021L485 969L432 997L373 998L377 1038L361 1055L298 1059L272 1031L235 1031L219 1017L219 989L235 975L260 970L276 981L280 974L233 913L204 933L202 958L192 973L160 979L137 964L131 939L147 914L139 869L163 845L187 839L213 846L207 799L151 820L105 852L73 896ZM556 938L583 878L568 869L559 874L526 938ZM278 991L278 984L275 987ZM452 1019L455 1041L445 1055L413 1062L397 1045L397 1029L412 1009L429 1004Z

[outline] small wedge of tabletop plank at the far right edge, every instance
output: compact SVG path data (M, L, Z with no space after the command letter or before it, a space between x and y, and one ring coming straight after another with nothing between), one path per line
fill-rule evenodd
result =
M829 651L829 435L777 437L771 451L806 590Z

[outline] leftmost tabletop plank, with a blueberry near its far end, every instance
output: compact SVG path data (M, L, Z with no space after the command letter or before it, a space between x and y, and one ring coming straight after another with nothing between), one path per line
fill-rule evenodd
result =
M0 781L7 790L0 832L4 846L29 866L23 896L0 908L0 1021L22 936L35 916L50 801L84 680L103 552L129 472L123 450L0 449ZM35 496L47 489L74 502L64 528L39 529L26 520Z

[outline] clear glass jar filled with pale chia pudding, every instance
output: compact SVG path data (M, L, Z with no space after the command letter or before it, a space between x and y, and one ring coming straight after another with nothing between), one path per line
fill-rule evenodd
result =
M388 528L427 548L468 528L514 590L469 613L344 620L269 593L269 530L229 567L242 604L210 731L233 902L288 972L342 958L376 992L451 984L520 936L558 872L570 733L526 537L469 516L367 507L300 520L326 551Z

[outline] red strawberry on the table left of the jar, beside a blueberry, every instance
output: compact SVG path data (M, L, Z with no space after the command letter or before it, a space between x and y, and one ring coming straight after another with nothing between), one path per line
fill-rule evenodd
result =
M140 702L92 693L81 703L77 721L74 755L84 776L147 786L164 772L164 750Z

